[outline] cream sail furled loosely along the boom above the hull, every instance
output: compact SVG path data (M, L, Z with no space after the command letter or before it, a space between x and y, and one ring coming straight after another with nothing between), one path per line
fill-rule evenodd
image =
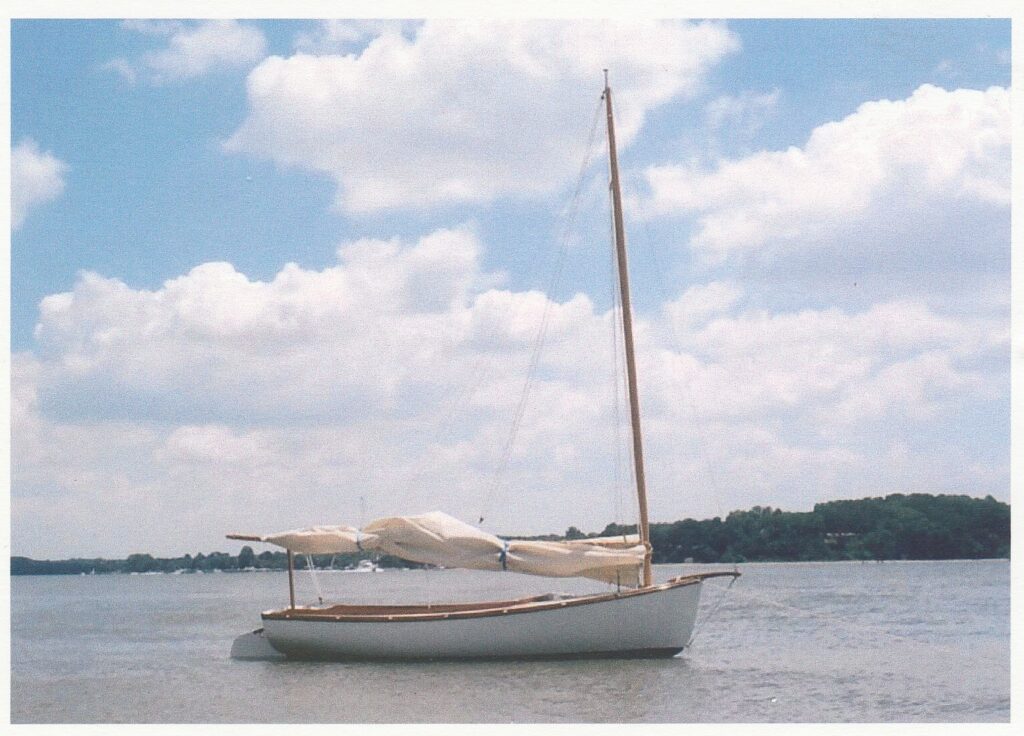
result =
M301 555L380 552L439 567L510 570L549 577L639 583L644 548L637 537L530 542L501 539L447 514L377 519L351 526L312 526L260 537Z

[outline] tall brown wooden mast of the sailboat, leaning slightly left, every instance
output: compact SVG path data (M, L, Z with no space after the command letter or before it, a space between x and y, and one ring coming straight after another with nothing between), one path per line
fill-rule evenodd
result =
M640 397L637 392L637 369L633 354L633 314L630 307L630 274L626 262L626 226L623 223L623 192L618 184L618 155L615 151L615 123L611 115L611 87L604 70L604 104L608 117L608 162L611 166L611 210L615 227L615 254L618 263L618 291L623 305L623 338L626 343L626 377L630 393L630 424L633 428L633 464L640 504L640 544L645 548L643 587L651 585L650 528L647 521L647 483L643 472L643 440L640 435Z

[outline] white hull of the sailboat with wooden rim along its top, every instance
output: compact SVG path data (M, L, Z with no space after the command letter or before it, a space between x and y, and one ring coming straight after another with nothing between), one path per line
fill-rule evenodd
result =
M304 659L671 657L689 643L706 577L649 589L454 606L268 611L262 636Z

